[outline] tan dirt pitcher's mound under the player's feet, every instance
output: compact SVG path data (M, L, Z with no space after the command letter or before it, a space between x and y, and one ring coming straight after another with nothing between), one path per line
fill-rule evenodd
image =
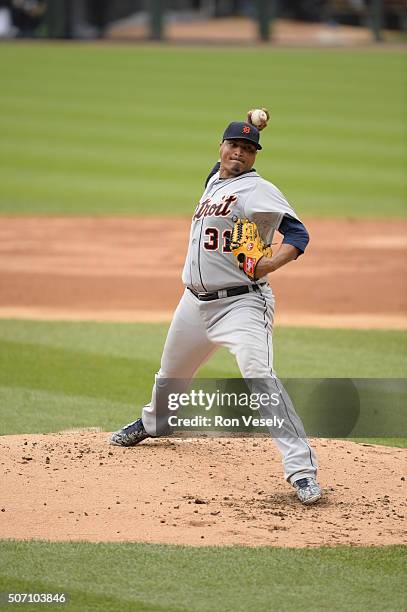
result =
M267 438L105 433L0 438L0 538L295 546L407 543L407 451L315 440L324 498L304 507Z

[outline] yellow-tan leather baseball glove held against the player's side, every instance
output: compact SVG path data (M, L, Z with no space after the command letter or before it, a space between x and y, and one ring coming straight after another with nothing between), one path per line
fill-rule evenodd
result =
M256 266L262 257L271 257L271 246L266 246L260 237L257 225L248 219L238 219L233 227L230 248L239 268L254 280Z

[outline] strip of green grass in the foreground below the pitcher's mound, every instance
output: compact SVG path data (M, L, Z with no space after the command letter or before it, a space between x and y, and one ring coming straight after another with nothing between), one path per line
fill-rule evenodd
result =
M0 590L64 591L68 607L81 611L395 611L405 603L405 557L402 546L299 551L6 541Z

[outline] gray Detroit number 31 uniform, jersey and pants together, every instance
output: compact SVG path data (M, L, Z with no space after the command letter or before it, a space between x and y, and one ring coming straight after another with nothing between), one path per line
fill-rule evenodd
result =
M261 379L270 392L278 390L290 429L274 437L283 456L285 478L315 478L317 462L291 400L273 370L272 329L274 296L267 278L252 282L239 269L230 252L230 237L237 218L254 221L270 244L284 215L298 217L283 194L257 172L208 182L192 218L188 253L182 274L185 292L168 331L161 367L156 375L151 403L143 409L148 434L160 435L167 414L160 414L160 383L165 379L190 380L220 346L235 356L245 379ZM247 287L239 295L228 288ZM216 299L205 301L208 293ZM213 296L212 296L213 297Z

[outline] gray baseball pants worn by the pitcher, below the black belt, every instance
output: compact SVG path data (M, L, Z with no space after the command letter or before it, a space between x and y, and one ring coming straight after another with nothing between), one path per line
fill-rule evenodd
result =
M268 285L259 292L209 302L200 301L185 289L168 331L151 402L143 409L147 433L157 436L166 429L168 413L159 407L165 380L191 380L197 369L224 346L235 356L244 379L261 379L271 393L277 390L281 396L286 429L283 437L273 434L273 440L282 455L286 480L293 483L304 477L315 478L315 452L273 370L273 318L274 297Z

